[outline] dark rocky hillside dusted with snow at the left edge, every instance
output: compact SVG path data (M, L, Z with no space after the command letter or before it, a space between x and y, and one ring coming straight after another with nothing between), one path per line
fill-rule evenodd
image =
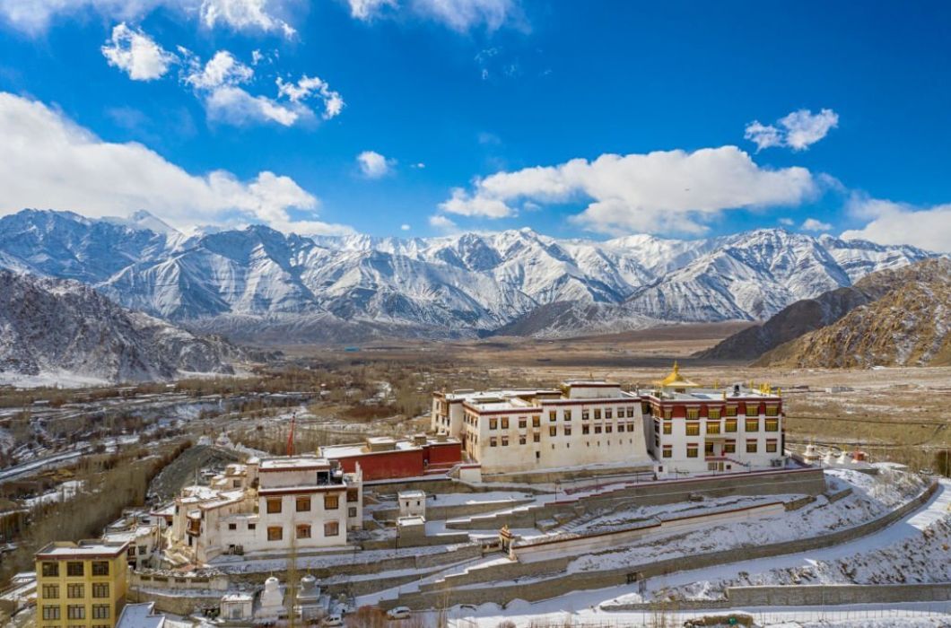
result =
M0 382L144 382L230 373L237 349L87 285L0 270Z

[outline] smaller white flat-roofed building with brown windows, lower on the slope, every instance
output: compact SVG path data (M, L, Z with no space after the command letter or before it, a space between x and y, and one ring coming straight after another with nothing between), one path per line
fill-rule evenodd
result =
M315 456L229 464L210 486L175 500L174 549L197 562L221 554L345 545L362 526L362 477Z

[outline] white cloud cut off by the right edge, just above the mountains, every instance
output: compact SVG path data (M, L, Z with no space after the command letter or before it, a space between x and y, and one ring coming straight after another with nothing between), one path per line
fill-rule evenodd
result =
M916 207L856 195L849 202L856 218L869 222L860 229L844 231L845 240L861 239L880 245L914 245L951 253L951 203Z

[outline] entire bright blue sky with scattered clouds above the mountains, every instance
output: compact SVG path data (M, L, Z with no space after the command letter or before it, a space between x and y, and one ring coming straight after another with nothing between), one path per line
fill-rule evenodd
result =
M951 8L908 7L0 0L0 213L948 250Z

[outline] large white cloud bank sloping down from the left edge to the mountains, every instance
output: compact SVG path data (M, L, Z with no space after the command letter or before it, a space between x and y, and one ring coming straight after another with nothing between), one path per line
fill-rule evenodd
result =
M318 200L289 177L192 174L141 144L106 142L53 108L6 92L0 137L0 213L40 207L110 216L141 208L181 227L243 220L282 230L348 228L292 220L289 210L313 218Z

